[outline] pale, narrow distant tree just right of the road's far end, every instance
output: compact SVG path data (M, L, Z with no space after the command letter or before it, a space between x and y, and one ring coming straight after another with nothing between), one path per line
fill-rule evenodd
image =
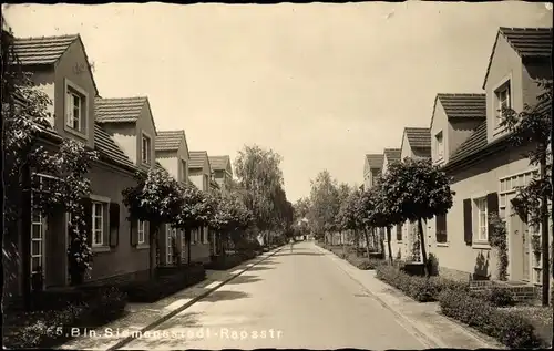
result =
M329 172L320 172L311 182L309 224L319 238L335 230L335 218L339 211L339 194L337 182Z

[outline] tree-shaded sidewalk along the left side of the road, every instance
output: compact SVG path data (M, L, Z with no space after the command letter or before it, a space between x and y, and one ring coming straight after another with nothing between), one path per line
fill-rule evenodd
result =
M206 270L206 279L187 289L181 290L154 303L127 303L126 316L93 330L84 330L74 339L58 349L61 350L116 350L133 337L131 333L144 333L173 316L188 308L194 302L217 290L229 280L242 275L281 248L265 252L249 261L226 271Z

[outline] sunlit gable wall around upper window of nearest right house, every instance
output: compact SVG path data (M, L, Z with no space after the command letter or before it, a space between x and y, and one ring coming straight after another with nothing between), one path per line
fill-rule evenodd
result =
M523 65L520 55L512 49L504 37L499 35L494 55L492 56L489 76L485 84L486 93L486 137L489 142L502 135L495 130L496 104L494 91L506 79L511 81L512 109L523 109Z

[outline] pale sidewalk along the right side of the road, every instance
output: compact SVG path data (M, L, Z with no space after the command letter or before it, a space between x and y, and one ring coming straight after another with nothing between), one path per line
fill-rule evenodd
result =
M317 245L317 249L358 281L386 309L392 311L402 324L409 324L429 348L505 349L490 337L470 330L440 314L438 302L420 303L376 278L375 270L361 270Z

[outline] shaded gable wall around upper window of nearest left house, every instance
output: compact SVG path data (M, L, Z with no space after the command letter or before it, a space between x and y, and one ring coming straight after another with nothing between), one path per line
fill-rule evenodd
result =
M93 76L88 69L89 62L84 54L83 45L79 40L74 41L60 58L55 64L55 130L62 136L71 136L86 142L86 145L94 147L94 97L96 91L94 89ZM78 136L74 133L68 132L65 128L65 80L76 84L86 93L86 131L84 137Z

